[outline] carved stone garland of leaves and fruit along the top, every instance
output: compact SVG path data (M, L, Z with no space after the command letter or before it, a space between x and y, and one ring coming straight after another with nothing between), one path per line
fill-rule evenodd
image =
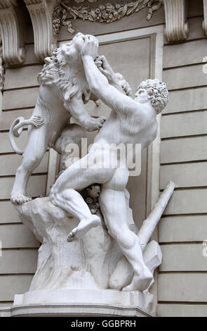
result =
M88 0L89 1L89 0ZM84 2L82 0L75 0L76 3L80 4ZM90 2L95 2L90 0ZM74 33L75 30L72 29L71 19L76 20L77 18L81 20L89 20L90 22L99 23L112 23L116 20L131 15L133 13L138 13L142 8L148 7L146 20L152 18L154 11L161 8L163 1L158 0L137 0L131 3L108 3L100 4L98 6L69 6L69 1L60 0L58 6L54 8L53 13L53 35L58 36L61 25L67 25L67 30L69 33Z

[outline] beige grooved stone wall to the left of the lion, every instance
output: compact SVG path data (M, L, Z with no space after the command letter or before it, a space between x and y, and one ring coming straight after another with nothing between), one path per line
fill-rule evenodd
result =
M36 270L39 242L28 227L18 218L11 205L10 194L15 171L22 157L15 154L8 140L8 131L13 120L19 116L29 118L32 114L39 87L36 75L41 70L34 56L32 26L27 26L25 63L18 68L6 68L3 104L0 117L0 237L2 256L0 258L0 301L8 306L15 293L27 291ZM27 130L17 140L22 149L27 139ZM46 193L48 172L48 151L29 180L28 192L32 196Z

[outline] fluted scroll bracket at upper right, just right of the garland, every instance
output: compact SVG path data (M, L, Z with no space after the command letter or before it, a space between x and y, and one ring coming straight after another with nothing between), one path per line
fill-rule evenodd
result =
M166 15L166 38L168 42L180 42L187 39L185 0L163 0Z

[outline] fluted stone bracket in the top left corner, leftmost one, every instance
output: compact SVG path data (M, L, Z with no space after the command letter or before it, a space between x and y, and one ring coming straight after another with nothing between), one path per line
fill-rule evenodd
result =
M2 53L6 64L16 65L25 61L23 32L17 0L0 1L0 26L2 35Z

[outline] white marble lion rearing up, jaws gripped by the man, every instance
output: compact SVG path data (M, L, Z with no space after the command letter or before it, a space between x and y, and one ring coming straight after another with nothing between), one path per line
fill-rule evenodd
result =
M23 204L32 199L27 196L29 176L41 162L48 147L60 152L60 148L55 144L58 139L60 141L65 127L69 142L72 142L76 136L85 137L85 130L98 130L105 123L105 117L91 118L84 107L93 97L81 62L83 36L78 33L72 42L55 49L51 58L45 58L46 64L38 75L40 89L32 118L16 118L11 125L11 146L17 154L23 156L11 192L13 204ZM71 124L70 130L68 123L71 116L79 125ZM19 137L25 125L28 125L27 145L25 150L21 151L15 144L14 137Z

